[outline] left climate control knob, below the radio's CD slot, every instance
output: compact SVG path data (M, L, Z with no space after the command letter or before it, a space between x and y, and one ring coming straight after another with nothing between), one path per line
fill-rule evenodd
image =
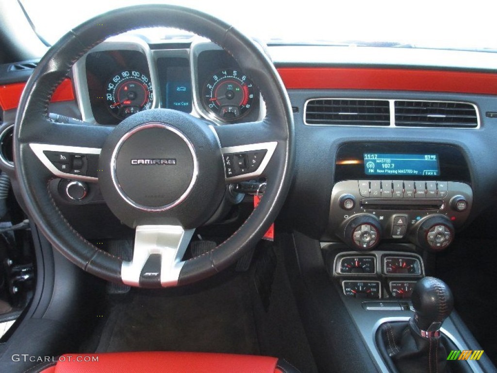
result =
M356 250L372 250L380 242L380 221L371 214L353 216L340 227L338 236Z

